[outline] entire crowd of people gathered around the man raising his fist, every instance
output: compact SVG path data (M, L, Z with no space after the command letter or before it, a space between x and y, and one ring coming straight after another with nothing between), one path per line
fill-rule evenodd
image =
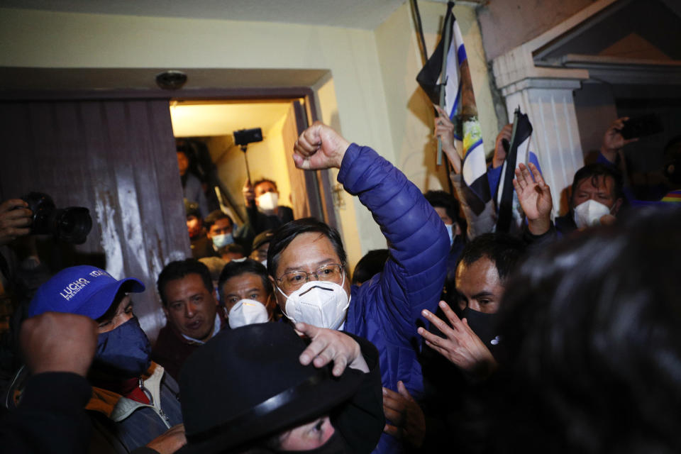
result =
M622 121L575 173L565 216L552 218L562 188L536 157L518 165L519 233L496 231L493 201L471 208L446 115L435 131L455 194L422 194L375 150L315 123L294 164L337 169L387 243L352 275L338 231L294 219L270 179L245 184L243 226L207 212L179 150L192 257L157 276L166 326L151 345L135 277L81 265L44 279L21 324L0 446L679 452L681 210L666 202L681 201L681 148L665 150L661 201L638 200L618 159ZM495 143L493 191L510 134ZM31 215L19 199L1 204L0 245L28 235Z

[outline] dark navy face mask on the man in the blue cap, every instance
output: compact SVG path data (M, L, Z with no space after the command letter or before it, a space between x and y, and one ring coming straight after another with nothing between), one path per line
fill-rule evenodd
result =
M149 339L137 317L133 317L118 328L99 335L93 368L112 378L139 377L151 365L150 353Z

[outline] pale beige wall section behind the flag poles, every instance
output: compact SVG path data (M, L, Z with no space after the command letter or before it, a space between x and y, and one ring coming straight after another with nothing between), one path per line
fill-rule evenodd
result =
M430 55L438 42L446 6L419 1L419 10ZM483 141L485 150L489 151L494 148L498 133L497 116L489 90L480 28L472 7L455 6L454 15L466 46ZM397 165L423 191L447 187L444 166L436 166L432 104L416 83L416 74L423 63L408 2L376 29L376 43Z

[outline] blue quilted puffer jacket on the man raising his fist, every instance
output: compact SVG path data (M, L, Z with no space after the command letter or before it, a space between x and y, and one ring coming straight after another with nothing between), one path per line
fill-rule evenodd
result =
M390 256L382 273L353 286L344 331L376 345L383 386L397 390L402 380L418 399L423 377L418 354L425 324L421 310L435 311L450 252L449 236L433 207L402 172L368 147L345 152L338 182L358 195L380 225ZM377 450L394 453L401 443L384 434Z

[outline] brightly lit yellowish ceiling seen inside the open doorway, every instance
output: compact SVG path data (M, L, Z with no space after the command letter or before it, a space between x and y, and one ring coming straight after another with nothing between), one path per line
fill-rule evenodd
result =
M291 109L291 101L177 102L170 104L175 137L228 135L239 129L262 128L267 135Z

